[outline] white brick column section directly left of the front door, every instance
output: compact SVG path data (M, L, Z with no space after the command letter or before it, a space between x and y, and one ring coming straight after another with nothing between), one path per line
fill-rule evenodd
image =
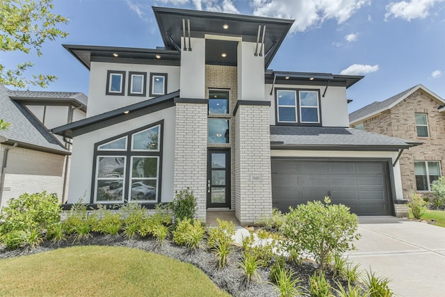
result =
M189 187L197 198L197 218L207 205L207 104L176 104L175 191Z

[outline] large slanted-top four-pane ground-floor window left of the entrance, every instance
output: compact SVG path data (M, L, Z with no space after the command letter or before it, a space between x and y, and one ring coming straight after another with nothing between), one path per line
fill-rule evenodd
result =
M92 203L158 202L163 122L95 145Z

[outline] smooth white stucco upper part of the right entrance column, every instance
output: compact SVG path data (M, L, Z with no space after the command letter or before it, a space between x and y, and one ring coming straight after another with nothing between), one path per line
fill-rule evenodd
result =
M264 100L264 56L254 56L254 42L238 42L238 100ZM259 51L259 47L258 47Z

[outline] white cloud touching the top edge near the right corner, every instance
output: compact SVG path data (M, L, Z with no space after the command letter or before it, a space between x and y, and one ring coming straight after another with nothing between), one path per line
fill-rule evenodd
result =
M428 16L429 10L435 3L443 0L410 0L393 2L387 5L385 21L389 17L399 17L411 21L411 19L424 19Z

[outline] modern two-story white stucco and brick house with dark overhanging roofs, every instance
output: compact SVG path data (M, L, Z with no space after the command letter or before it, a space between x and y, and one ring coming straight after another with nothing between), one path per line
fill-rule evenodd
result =
M88 118L52 130L74 138L68 203L153 208L189 187L204 220L326 195L398 214L396 158L415 143L348 127L362 77L267 70L293 20L153 10L165 47L65 45L90 70Z

